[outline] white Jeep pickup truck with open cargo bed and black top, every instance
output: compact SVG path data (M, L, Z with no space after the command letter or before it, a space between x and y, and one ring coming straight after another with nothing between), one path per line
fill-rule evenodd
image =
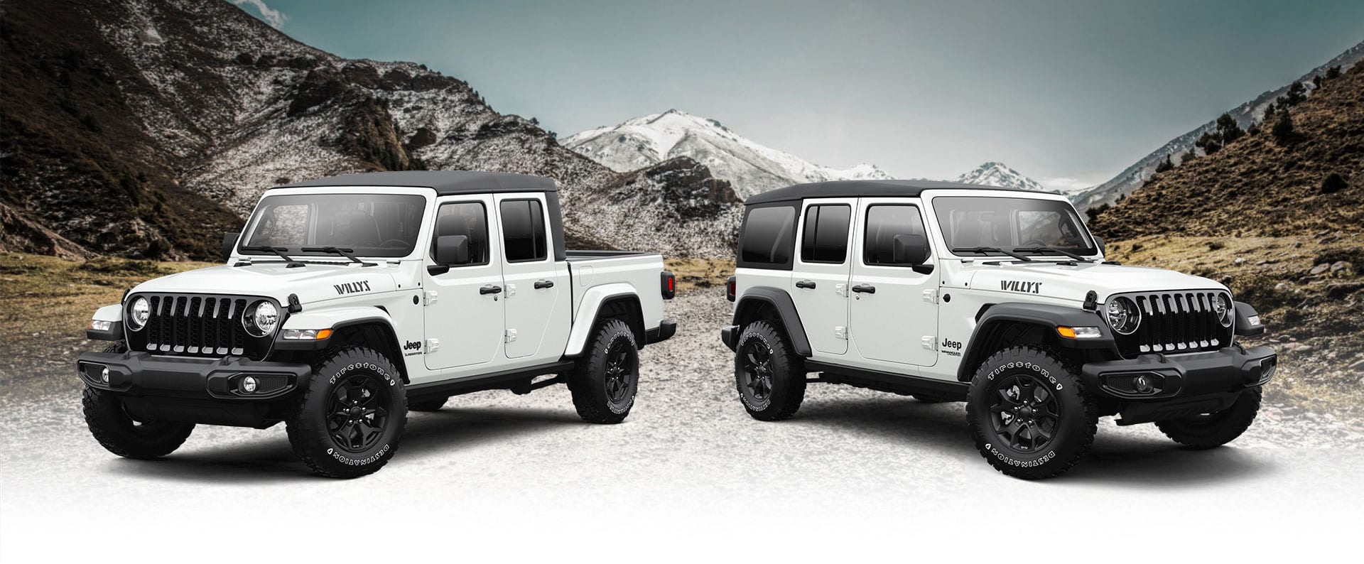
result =
M226 266L143 282L95 312L112 341L78 371L113 454L170 454L195 424L284 421L315 473L382 467L408 410L566 383L578 416L625 420L638 354L672 336L653 253L566 251L550 178L349 174L271 188ZM547 377L542 377L547 376Z

